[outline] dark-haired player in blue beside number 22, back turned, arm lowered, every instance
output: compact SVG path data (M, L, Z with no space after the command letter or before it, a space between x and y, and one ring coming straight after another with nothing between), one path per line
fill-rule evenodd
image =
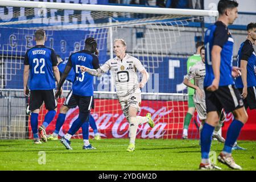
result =
M57 86L57 92L55 97L59 97L61 92L61 86L68 76L69 71L73 68L75 72L75 81L72 85L72 96L75 98L77 105L79 106L79 117L72 123L71 128L64 137L60 139L60 142L68 150L72 150L71 142L69 141L82 126L83 123L89 122L90 109L93 108L93 76L89 73L82 73L80 66L89 67L92 69L100 68L98 63L98 57L94 55L97 53L97 42L94 38L87 38L85 40L85 49L79 52L75 52L69 56L67 66L63 74L61 75L59 85ZM83 146L84 149L86 146Z

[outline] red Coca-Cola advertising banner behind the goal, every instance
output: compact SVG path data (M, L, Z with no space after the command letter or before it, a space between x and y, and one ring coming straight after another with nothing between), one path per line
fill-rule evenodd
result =
M57 114L50 125L47 127L47 134L53 133L55 130L55 124L57 115L59 114L60 106L63 104L64 98L61 98L58 103ZM121 106L118 100L112 99L95 99L95 108L92 109L91 114L95 119L98 131L101 133L102 138L127 138L128 137L128 122L125 115L123 115ZM183 131L183 121L187 112L187 101L142 101L141 111L138 115L144 116L146 113L151 113L152 119L155 121L155 127L153 129L148 126L147 123L139 125L137 131L137 138L164 138L164 139L177 139L181 138ZM39 125L43 123L44 115L47 110L43 106L39 113ZM256 140L256 113L255 110L248 110L249 120L243 127L240 138L246 140ZM78 117L79 109L70 109L66 114L66 119L63 127L61 127L59 135L63 136L68 132L73 121ZM195 118L195 119L194 119ZM226 122L222 127L222 135L226 137L226 131L233 115L227 114ZM189 138L198 139L200 126L200 120L197 114L192 118L189 125L188 133ZM29 131L31 134L31 127L29 125ZM92 129L89 129L89 135L93 136ZM30 135L31 137L32 135ZM82 138L81 129L74 135L75 138Z

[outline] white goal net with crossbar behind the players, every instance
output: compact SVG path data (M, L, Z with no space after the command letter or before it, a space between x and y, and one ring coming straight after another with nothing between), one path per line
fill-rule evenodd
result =
M23 88L24 54L35 46L34 32L39 28L46 30L46 46L53 48L63 60L83 49L84 40L92 36L97 39L100 64L104 64L114 56L113 40L125 39L127 53L137 57L150 73L150 80L142 89L139 114L150 112L156 126L154 129L139 126L138 137L180 138L188 100L187 88L182 82L187 74L187 58L195 53L196 38L202 36L204 16L214 20L217 11L0 1L0 104L15 108L11 112L1 111L0 138L31 137L26 99L21 90L10 90ZM66 81L63 89L68 92L71 88L72 84ZM111 73L94 77L94 90L92 116L102 137L127 137L127 121L115 96ZM64 98L59 100L58 108L63 101ZM24 107L19 102L23 102ZM77 108L69 110L63 133L77 112ZM43 106L39 125L44 114ZM47 133L54 130L56 118L57 114ZM199 136L197 121L195 115L189 127L190 138ZM77 133L77 137L80 135Z

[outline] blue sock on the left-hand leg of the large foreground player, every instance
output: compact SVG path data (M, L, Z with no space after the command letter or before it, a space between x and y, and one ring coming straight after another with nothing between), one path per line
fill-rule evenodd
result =
M201 158L209 159L210 144L212 143L212 134L214 127L204 123L203 129L201 131Z

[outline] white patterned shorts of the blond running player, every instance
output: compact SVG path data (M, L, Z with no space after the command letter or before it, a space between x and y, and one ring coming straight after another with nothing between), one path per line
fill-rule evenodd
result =
M129 117L129 107L135 107L137 112L141 111L141 93L134 92L128 96L119 96L118 100L127 119Z

